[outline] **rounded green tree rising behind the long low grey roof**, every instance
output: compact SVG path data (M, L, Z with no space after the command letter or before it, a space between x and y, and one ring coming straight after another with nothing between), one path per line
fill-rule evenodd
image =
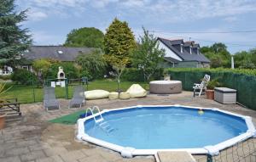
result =
M102 48L104 34L94 27L74 29L67 34L64 46L67 47L99 47Z

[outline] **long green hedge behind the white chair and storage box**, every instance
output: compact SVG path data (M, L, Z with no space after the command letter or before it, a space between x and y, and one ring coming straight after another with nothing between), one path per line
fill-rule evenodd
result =
M183 82L183 89L192 91L194 83L200 83L205 74L218 78L223 87L237 90L237 102L256 110L256 70L230 69L168 69L172 80Z

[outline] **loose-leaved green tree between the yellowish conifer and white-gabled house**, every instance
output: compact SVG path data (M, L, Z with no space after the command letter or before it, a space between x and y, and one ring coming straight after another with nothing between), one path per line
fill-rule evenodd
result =
M144 79L149 81L160 63L164 60L165 50L160 49L157 38L143 28L143 36L139 38L139 45L132 53L132 65L143 71Z

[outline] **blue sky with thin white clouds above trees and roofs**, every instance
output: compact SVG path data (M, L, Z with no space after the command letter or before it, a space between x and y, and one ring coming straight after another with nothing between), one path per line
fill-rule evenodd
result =
M142 27L154 36L183 38L202 46L224 42L230 53L256 47L256 0L16 0L28 8L35 45L60 45L73 29L96 27L106 32L116 17L134 35Z

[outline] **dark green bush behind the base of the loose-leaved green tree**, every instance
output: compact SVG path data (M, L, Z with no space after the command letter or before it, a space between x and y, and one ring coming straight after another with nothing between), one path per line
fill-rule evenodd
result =
M163 76L163 72L163 69L157 70L151 77L151 80L160 80L160 78ZM125 69L122 79L125 81L145 81L143 72L141 70L137 70L136 68Z

